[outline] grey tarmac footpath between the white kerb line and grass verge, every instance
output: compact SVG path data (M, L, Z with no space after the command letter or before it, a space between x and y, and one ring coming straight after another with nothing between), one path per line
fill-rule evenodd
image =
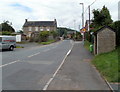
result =
M71 53L47 90L110 90L104 79L91 64L93 55L75 42Z

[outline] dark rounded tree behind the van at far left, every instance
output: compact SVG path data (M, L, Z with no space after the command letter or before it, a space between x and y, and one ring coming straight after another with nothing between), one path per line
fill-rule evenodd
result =
M12 24L9 21L4 21L3 23L1 23L1 26L2 26L1 31L15 32L15 29L11 25Z

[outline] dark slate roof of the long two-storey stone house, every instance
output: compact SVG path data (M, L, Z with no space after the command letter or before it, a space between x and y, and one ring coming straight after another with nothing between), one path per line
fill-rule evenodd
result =
M23 27L28 26L55 26L56 23L54 21L27 21L23 25Z

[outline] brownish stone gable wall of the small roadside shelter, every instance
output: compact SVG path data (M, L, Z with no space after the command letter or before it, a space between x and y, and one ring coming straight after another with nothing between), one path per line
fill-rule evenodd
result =
M97 34L97 54L110 52L115 49L116 46L115 32L108 28Z

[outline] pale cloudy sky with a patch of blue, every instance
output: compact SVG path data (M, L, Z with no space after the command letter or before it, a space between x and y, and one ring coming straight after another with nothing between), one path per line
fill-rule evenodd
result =
M0 0L0 23L4 20L12 22L13 28L22 29L25 19L28 21L57 20L58 27L78 30L82 27L82 5L84 3L85 21L88 20L88 5L95 0ZM120 0L96 0L93 9L102 9L105 5L113 21L118 20L118 2ZM79 26L80 25L80 26Z

